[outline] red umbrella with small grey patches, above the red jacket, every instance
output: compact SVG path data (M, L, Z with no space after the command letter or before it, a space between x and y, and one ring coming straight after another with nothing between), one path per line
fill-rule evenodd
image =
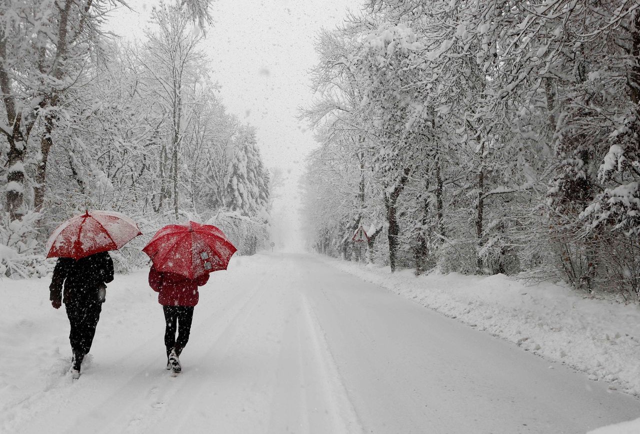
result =
M142 251L148 254L158 271L195 279L206 273L226 270L236 247L216 226L189 221L164 226Z

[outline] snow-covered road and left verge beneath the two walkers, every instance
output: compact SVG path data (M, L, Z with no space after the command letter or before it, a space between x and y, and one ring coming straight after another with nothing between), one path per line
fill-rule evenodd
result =
M77 381L46 281L2 282L1 433L585 433L636 398L339 272L234 258L202 288L184 371L164 370L143 272L109 285Z

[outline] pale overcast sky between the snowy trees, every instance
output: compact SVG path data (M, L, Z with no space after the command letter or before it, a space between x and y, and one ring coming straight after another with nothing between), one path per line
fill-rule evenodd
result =
M128 38L142 37L149 12L159 0L127 0L136 12L113 13L107 28ZM272 212L278 247L301 247L297 183L307 153L316 146L307 125L296 119L298 107L312 100L308 70L317 63L314 38L321 27L342 22L347 9L363 0L217 0L215 23L204 49L228 111L257 127L267 167L287 176L283 199Z

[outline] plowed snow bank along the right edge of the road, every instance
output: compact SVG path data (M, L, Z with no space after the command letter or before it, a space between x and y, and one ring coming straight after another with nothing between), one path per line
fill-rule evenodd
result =
M415 277L388 267L327 260L422 306L458 318L550 360L640 396L640 309L594 300L552 283L526 286L505 275ZM640 430L635 431L640 432Z

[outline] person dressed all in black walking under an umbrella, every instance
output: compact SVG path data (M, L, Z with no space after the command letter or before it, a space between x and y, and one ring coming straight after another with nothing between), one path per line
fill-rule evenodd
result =
M105 296L105 283L113 281L113 261L108 252L79 260L58 258L49 286L51 306L59 309L64 302L71 325L69 341L73 351L71 373L80 376L84 356L91 349L95 327ZM63 296L64 284L64 296Z

